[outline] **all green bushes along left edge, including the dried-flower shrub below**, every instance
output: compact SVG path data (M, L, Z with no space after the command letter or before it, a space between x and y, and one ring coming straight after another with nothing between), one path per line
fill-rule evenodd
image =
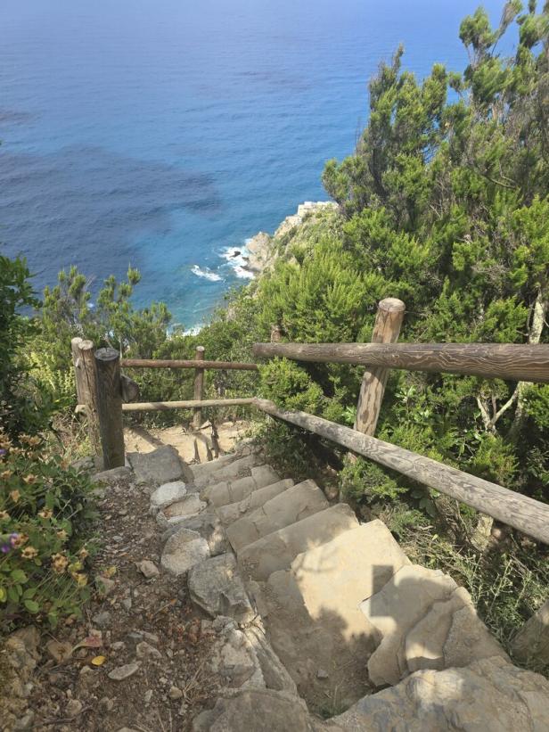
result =
M24 260L0 257L1 629L29 614L55 625L78 614L89 593L83 536L91 485L53 449L49 428L64 401L54 386L44 388L29 359L40 337L29 308L39 305Z

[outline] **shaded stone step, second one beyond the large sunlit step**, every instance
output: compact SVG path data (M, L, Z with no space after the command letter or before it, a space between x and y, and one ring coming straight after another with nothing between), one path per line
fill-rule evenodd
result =
M328 501L315 481L303 481L232 523L226 530L227 537L234 551L239 552L267 534L297 523L327 507Z

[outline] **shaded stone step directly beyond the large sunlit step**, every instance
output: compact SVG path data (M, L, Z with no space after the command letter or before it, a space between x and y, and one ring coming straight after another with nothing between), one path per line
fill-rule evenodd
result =
M254 541L237 553L238 560L244 576L266 580L272 572L289 569L296 556L307 549L357 526L354 512L340 503Z

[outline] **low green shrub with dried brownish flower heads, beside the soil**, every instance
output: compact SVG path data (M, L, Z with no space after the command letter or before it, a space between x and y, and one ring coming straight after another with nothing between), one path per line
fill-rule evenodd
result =
M32 615L52 626L89 596L81 538L93 517L89 479L42 438L0 433L0 608L5 626Z

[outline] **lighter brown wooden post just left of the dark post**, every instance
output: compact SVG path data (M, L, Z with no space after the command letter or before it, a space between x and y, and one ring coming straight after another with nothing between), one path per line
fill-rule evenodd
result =
M87 429L94 455L101 455L99 415L97 412L97 375L94 342L82 338L70 341L72 363L77 386L78 411L86 415Z

